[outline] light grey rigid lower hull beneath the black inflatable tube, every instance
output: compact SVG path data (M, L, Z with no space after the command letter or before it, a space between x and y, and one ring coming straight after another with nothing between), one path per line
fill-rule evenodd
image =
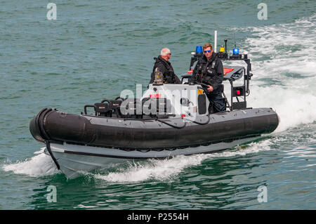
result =
M207 146L187 147L176 150L118 150L105 147L93 147L86 145L70 145L67 143L50 143L50 150L62 173L67 178L73 179L84 173L110 168L114 164L126 162L127 159L164 159L177 155L190 155L200 153L212 153L225 150L236 145L256 140L258 137L242 138L229 143L216 143ZM46 148L46 154L48 150ZM57 165L56 164L56 165Z

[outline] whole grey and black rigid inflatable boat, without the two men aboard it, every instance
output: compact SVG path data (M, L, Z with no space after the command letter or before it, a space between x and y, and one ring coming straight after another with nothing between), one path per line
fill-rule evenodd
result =
M227 110L209 114L205 86L190 83L200 56L201 52L195 52L191 58L182 84L163 84L162 74L156 71L157 79L141 98L102 100L85 105L81 114L44 108L30 121L30 132L46 145L45 152L58 169L67 178L76 178L82 171L126 159L218 152L275 131L279 117L272 108L246 105L252 76L247 55L221 55L223 62L242 60L247 66L224 68L224 81L231 87L230 100L223 91ZM243 84L234 86L242 77Z

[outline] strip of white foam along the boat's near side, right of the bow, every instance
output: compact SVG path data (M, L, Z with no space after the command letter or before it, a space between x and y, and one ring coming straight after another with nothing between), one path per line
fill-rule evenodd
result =
M261 143L250 143L247 147L236 147L232 151L224 151L213 154L194 154L191 156L177 156L172 159L156 160L148 159L146 163L132 163L127 169L107 174L95 174L94 177L114 183L130 183L145 180L173 180L179 173L185 171L187 167L199 166L205 159L220 157L235 157L256 153L262 150L271 150L273 144L271 139L263 140ZM207 147L207 146L201 146Z

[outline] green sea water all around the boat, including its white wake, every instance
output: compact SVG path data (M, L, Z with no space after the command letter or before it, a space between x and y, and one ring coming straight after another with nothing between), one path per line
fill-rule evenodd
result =
M0 209L316 209L315 1L0 1ZM228 39L252 60L250 107L274 133L215 154L129 161L67 180L29 133L44 107L143 91L161 48L176 74L195 46ZM225 88L228 89L228 88ZM207 146L203 146L207 147ZM48 187L56 202L48 202ZM260 202L261 187L267 200Z

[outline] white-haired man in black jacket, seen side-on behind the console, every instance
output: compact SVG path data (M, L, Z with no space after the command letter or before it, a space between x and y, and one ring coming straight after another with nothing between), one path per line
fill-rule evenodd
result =
M154 58L154 68L152 69L150 84L154 82L154 70L158 67L160 72L164 75L164 84L181 84L180 79L174 74L173 67L169 62L171 51L169 48L162 48L158 58Z

